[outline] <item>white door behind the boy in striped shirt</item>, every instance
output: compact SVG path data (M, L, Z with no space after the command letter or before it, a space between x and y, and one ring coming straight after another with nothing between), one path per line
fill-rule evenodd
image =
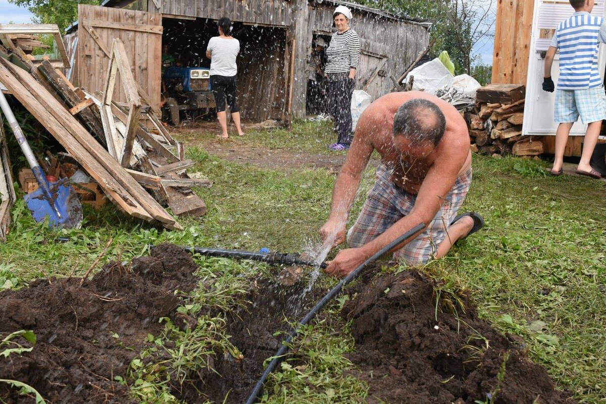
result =
M543 91L543 73L545 52L549 48L551 37L560 21L570 17L574 9L568 1L534 0L533 25L530 37L530 57L528 58L528 76L526 82L526 107L524 108L523 135L555 135L558 124L553 122L555 92ZM591 15L604 16L604 0L596 1ZM604 44L600 45L598 56L600 74L604 79L606 62ZM558 83L559 52L553 60L551 78ZM579 119L570 131L571 135L584 135L587 125Z

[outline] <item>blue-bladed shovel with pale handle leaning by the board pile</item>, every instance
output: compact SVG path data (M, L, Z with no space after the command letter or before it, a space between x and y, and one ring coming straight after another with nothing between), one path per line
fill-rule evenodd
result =
M13 130L21 151L38 181L38 189L25 195L25 203L32 212L34 220L41 222L48 217L50 227L67 229L79 227L82 224L82 205L78 195L73 187L67 184L67 178L52 183L47 180L2 91L0 91L0 109L6 116L8 125Z

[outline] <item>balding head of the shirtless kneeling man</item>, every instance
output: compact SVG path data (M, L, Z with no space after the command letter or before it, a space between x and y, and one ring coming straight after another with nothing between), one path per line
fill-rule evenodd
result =
M438 105L422 98L405 102L393 117L393 135L438 146L446 131L446 118Z

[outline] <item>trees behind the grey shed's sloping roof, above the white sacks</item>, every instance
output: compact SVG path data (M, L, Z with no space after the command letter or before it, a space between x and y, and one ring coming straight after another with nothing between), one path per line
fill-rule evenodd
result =
M445 50L456 74L470 73L478 55L473 47L491 34L494 11L490 0L355 0L398 15L433 22L431 56Z

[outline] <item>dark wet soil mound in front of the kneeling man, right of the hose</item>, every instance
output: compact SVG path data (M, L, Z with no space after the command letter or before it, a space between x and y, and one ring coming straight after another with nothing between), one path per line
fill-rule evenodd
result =
M352 374L368 382L368 402L574 403L473 305L459 319L438 310L436 321L433 285L418 273L384 275L348 292L358 292L342 311L353 319Z

